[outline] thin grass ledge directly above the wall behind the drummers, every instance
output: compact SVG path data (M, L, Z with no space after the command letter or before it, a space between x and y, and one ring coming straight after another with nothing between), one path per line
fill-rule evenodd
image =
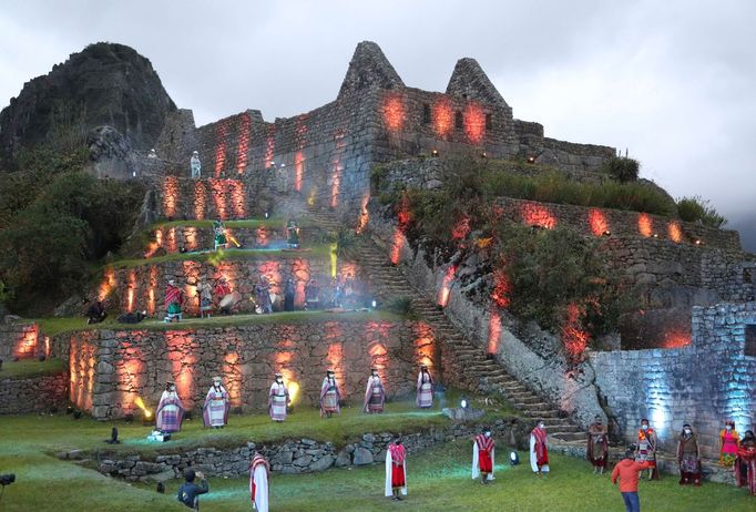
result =
M277 257L277 258L328 258L330 257L330 245L316 245L304 250L290 249L226 249L215 252L202 253L171 253L153 258L132 258L119 259L106 264L106 267L113 268L131 268L142 265L156 265L166 262L210 262L217 265L225 259L257 259L259 257Z

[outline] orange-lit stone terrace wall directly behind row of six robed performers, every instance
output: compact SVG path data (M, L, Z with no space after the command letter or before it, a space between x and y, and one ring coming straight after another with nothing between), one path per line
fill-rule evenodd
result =
M345 400L361 403L370 368L390 397L415 389L419 362L436 367L437 347L423 322L338 319L259 322L165 331L84 331L70 337L71 399L98 419L152 408L166 380L176 382L187 409L202 405L215 375L234 407L263 409L273 375L300 387L296 402L317 402L327 368L336 370Z

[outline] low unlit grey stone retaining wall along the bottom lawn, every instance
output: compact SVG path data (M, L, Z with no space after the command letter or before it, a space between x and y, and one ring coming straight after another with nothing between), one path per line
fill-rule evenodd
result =
M507 457L512 433L523 447L527 437L524 428L515 419L499 419L491 427L498 441L499 457ZM233 421L233 417L231 419ZM454 440L470 440L480 431L479 424L456 423L428 432L405 433L402 443L410 459L435 444ZM154 458L146 455L122 455L116 452L98 452L98 470L106 475L126 481L164 481L181 478L184 469L192 467L207 477L233 478L249 474L249 460L258 451L270 462L275 473L313 473L329 468L351 468L386 461L386 447L392 441L391 433L365 433L344 447L311 439L286 440L277 444L248 442L245 447L217 449L197 448L184 452L163 453ZM171 450L166 444L165 450ZM82 453L62 453L63 458L81 458Z

